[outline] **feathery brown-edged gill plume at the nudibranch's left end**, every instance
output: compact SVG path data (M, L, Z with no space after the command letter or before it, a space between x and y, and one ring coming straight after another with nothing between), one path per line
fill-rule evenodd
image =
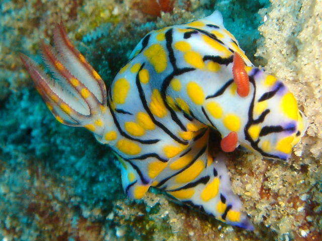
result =
M104 130L101 115L107 108L105 84L73 48L62 26L58 25L55 33L55 48L42 43L43 59L53 79L26 55L21 54L20 58L58 122L100 134ZM72 53L77 53L78 59Z

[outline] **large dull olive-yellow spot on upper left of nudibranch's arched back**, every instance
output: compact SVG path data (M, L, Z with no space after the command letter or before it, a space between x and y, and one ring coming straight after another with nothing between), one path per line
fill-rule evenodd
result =
M152 44L144 51L144 56L150 61L157 73L166 70L168 65L167 53L160 44Z

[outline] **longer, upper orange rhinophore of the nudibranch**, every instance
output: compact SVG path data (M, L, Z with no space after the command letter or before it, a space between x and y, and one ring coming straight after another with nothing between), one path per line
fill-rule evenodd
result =
M237 85L238 95L246 97L250 92L250 80L245 70L244 60L237 52L233 54L232 74L233 80Z

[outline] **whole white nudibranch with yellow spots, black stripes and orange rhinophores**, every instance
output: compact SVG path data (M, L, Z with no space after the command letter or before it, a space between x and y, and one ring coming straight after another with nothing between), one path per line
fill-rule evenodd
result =
M42 44L53 79L23 54L22 62L57 121L87 128L115 151L129 197L153 186L254 228L231 190L224 153L242 146L287 160L306 122L294 95L251 63L219 12L148 33L108 91L61 24L53 40L55 48ZM214 151L214 132L222 151Z

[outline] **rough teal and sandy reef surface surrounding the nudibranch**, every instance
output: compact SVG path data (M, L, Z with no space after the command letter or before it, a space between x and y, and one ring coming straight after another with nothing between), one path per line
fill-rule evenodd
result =
M153 2L153 0L151 0ZM318 0L0 2L0 240L322 240L322 2ZM250 232L151 190L125 197L111 150L86 130L60 125L18 58L40 62L63 20L107 84L150 30L218 9L246 54L285 81L308 117L288 163L243 152L228 163Z

